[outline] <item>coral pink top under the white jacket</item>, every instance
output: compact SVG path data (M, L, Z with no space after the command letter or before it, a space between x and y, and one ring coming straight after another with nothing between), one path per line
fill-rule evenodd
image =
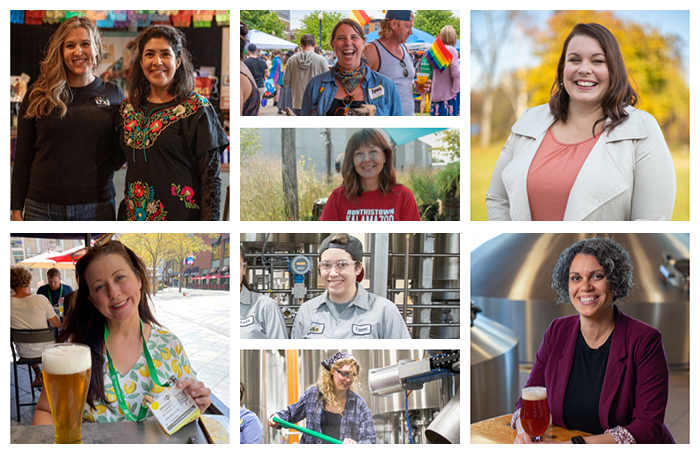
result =
M576 144L562 144L547 130L527 174L533 221L562 221L569 193L600 134Z

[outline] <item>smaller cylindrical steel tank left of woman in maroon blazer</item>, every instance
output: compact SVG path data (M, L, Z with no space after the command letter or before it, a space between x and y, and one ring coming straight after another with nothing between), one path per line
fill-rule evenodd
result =
M471 335L471 421L514 411L520 395L515 332L479 314Z

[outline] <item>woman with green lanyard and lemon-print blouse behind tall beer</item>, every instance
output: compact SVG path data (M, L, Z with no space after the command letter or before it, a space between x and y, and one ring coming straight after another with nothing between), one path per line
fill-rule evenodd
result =
M204 412L211 404L211 390L194 378L180 340L153 316L141 259L120 242L108 241L88 250L75 269L80 276L75 309L58 342L86 344L92 351L84 418L93 422L152 418L142 406L143 398L162 392L172 376ZM43 390L32 423L53 423Z

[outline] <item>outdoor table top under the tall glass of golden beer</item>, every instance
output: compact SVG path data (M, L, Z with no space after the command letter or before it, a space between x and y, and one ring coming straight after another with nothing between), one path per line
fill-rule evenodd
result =
M53 425L11 427L12 444L53 444ZM207 444L199 420L168 436L155 420L143 422L83 423L84 444Z

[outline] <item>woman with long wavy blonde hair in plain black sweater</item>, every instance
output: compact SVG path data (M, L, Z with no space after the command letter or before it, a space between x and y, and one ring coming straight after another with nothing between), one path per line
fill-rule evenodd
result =
M124 93L95 76L97 27L85 17L51 36L41 74L22 102L12 168L14 221L113 221L113 177L124 164L114 121Z

